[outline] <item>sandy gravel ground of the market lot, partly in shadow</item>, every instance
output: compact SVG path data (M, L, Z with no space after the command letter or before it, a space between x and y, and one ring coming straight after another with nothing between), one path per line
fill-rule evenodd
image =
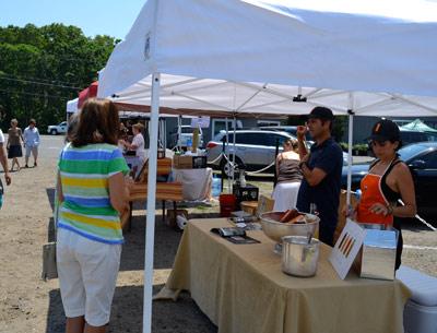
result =
M52 238L52 195L61 136L45 136L37 168L12 174L0 211L0 332L63 332L58 281L39 280L42 246ZM3 177L1 175L1 177ZM270 194L271 178L249 181ZM108 332L141 332L144 266L144 204L135 205L132 230L126 235ZM217 203L187 207L190 217L217 216ZM154 293L165 283L181 233L169 228L156 211ZM435 224L436 225L436 224ZM403 262L437 276L437 237L417 222L408 222ZM153 332L216 332L188 294L177 301L153 304Z

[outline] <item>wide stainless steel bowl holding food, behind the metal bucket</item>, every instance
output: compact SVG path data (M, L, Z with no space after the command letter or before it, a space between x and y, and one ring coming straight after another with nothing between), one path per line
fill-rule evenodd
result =
M284 212L267 212L261 214L260 221L265 236L281 243L284 236L317 235L320 218L312 214L305 214L305 224L290 224L277 222Z

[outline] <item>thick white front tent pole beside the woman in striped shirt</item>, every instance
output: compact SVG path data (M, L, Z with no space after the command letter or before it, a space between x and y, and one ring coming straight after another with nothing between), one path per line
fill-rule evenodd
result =
M151 132L147 175L147 214L145 221L143 333L152 332L153 247L155 237L155 192L157 164L157 131L160 118L160 73L152 75Z

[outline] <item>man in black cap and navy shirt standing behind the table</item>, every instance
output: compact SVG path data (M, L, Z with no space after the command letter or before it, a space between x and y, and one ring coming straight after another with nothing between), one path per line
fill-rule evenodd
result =
M333 235L338 222L340 181L343 153L331 136L334 116L329 108L316 107L308 116L307 127L297 128L300 170L304 179L297 197L297 209L309 212L316 204L320 217L319 239L333 246ZM309 131L315 144L308 154L305 134Z

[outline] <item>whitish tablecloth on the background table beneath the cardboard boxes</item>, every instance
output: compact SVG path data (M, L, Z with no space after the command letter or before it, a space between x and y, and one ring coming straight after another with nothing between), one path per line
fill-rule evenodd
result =
M209 200L211 198L212 169L173 169L175 181L182 183L185 200Z

